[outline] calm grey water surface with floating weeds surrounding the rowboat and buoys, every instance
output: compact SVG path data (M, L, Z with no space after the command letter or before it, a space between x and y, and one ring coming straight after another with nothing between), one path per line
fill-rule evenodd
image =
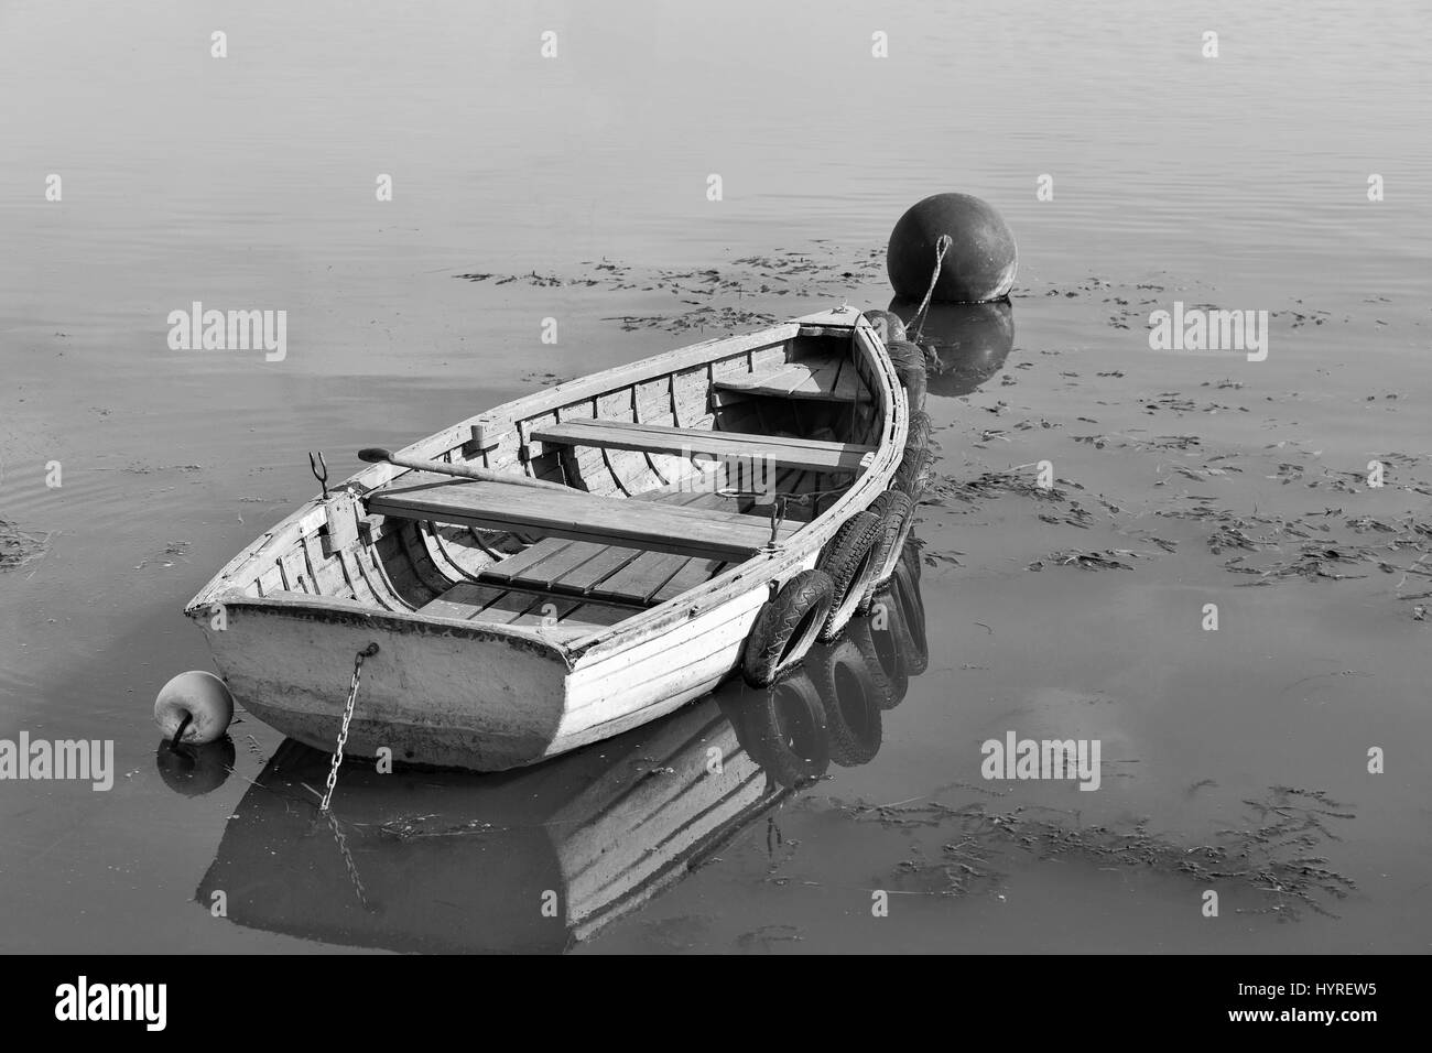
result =
M0 784L0 948L1428 950L1421 550L1249 587L1183 514L1313 521L1259 549L1283 559L1432 521L1428 29L1400 3L0 6L0 519L50 533L0 573L0 738L110 738L119 768L109 794ZM947 189L1001 209L1021 269L1012 348L937 332L965 358L929 404L918 675L874 706L732 689L530 772L355 771L345 840L305 814L324 758L252 719L232 775L170 789L150 703L209 663L180 609L312 493L306 450L342 477L719 335L610 321L687 309L664 272L753 274L722 302L778 317L836 287L884 307L861 264ZM735 262L782 254L823 281ZM627 288L571 284L601 259ZM286 309L288 358L170 351L196 299ZM1269 360L1150 352L1173 299L1273 312ZM1392 484L1346 484L1373 457ZM1064 499L959 489L1044 458ZM1010 729L1101 739L1101 791L981 779ZM709 744L725 782L693 778ZM1210 885L1181 864L1210 845L1262 870ZM229 918L195 903L215 888ZM534 888L569 915L523 914Z

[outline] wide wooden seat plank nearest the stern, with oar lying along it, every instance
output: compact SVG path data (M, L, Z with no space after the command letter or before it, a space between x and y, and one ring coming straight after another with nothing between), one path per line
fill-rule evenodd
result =
M425 474L425 473L411 473ZM666 503L633 503L573 490L536 490L510 483L405 476L365 499L369 513L485 529L526 530L579 542L670 552L705 559L748 559L770 533L753 517ZM782 527L782 537L795 533Z

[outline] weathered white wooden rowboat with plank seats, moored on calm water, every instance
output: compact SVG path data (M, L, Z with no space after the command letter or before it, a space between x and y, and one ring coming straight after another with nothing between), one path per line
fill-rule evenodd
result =
M740 668L762 609L891 486L908 425L895 365L855 308L707 341L414 443L394 460L434 470L359 471L241 552L186 613L235 698L308 745L334 749L355 655L377 643L349 754L533 764ZM825 629L894 562L852 572ZM809 646L805 622L788 650Z

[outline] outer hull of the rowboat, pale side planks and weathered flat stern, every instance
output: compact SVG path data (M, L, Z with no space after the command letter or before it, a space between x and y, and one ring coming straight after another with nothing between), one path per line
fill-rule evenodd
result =
M808 562L813 562L813 556ZM597 742L715 691L740 663L765 590L571 669L554 648L455 625L304 607L228 607L208 632L235 699L276 731L332 752L352 660L368 643L345 752L501 771Z

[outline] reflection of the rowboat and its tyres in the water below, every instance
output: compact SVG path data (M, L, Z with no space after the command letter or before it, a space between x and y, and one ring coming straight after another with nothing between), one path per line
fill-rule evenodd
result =
M397 951L561 951L637 910L833 765L881 746L925 670L919 556L871 617L775 688L726 685L672 716L537 768L344 768L286 741L231 817L199 885L231 921Z

